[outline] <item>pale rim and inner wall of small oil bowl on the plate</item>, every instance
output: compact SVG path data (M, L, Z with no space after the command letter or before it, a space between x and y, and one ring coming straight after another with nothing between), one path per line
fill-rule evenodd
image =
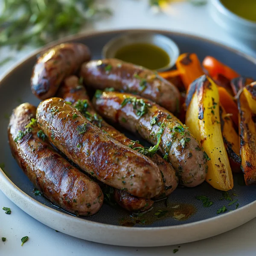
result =
M116 53L118 53L119 50L126 49L129 46L133 47L143 44L152 48L158 47L160 51L162 49L162 51L169 56L167 63L163 67L155 69L157 71L166 71L172 68L180 55L180 49L177 44L167 36L149 32L131 32L117 36L109 41L102 49L102 58L116 58Z

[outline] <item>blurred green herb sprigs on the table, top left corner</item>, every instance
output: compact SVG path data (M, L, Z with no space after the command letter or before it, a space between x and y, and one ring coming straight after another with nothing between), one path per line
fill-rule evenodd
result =
M0 46L16 49L25 44L42 46L111 11L95 0L5 0L0 17Z

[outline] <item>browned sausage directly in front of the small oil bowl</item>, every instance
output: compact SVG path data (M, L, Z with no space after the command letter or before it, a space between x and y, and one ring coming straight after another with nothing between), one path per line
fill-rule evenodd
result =
M157 102L172 113L179 108L177 88L144 67L118 59L103 59L84 63L80 73L85 84L95 89L113 87L117 91L135 93Z

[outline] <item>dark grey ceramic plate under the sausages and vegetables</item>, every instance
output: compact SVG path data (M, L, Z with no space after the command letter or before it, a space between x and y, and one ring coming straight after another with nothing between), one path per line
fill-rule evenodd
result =
M100 58L102 47L111 38L124 32L127 31L97 32L65 41L87 44L93 58ZM206 55L214 56L244 76L256 78L256 60L253 58L202 38L172 32L161 33L172 38L180 47L180 52L195 52L201 60ZM238 201L231 206L228 206L230 201L223 199L220 191L204 183L196 188L176 189L168 199L170 211L165 216L157 218L154 215L158 209L166 209L165 202L160 201L148 214L153 216L154 221L145 215L140 218L139 223L134 223L124 210L107 204L92 217L78 218L52 206L44 197L34 196L34 186L12 158L6 136L6 115L9 116L12 109L21 102L38 105L39 101L32 95L29 87L35 60L36 54L31 55L0 81L0 163L5 163L5 170L9 174L8 178L0 172L0 189L33 218L55 230L90 241L126 246L161 246L215 236L256 217L256 186L239 185L239 177L235 177L234 189L230 192L232 200ZM233 192L238 196L232 195ZM208 196L213 204L208 208L203 207L202 202L195 198L199 195ZM235 210L237 203L239 208ZM177 205L182 210L170 208ZM223 206L228 208L227 212L217 215L217 209ZM178 221L173 217L173 212L180 215L188 214L189 211L193 214L186 220ZM145 224L141 223L144 219ZM124 227L124 223L134 224L134 227Z

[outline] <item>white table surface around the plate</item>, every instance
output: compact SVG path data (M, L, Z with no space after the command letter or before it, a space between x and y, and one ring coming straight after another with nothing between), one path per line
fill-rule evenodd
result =
M249 55L256 56L245 45L227 34L209 17L207 6L192 6L190 3L180 2L172 4L166 14L154 15L148 9L147 0L102 0L109 6L114 14L111 18L97 21L94 27L89 29L108 30L126 28L154 28L166 29L189 34L199 35L214 41L221 42L233 48L239 49ZM24 49L17 53L13 61L0 67L0 74L12 68L17 61L25 58L32 52L32 48ZM6 49L0 49L0 59L6 56ZM96 244L81 239L76 239L36 221L15 204L13 204L3 192L0 191L0 207L10 207L11 215L0 211L0 237L6 237L6 241L0 239L0 256L58 256L58 255L92 255L92 256L153 256L172 255L176 246L167 247L117 247L104 244ZM29 236L29 241L20 246L20 239ZM215 256L215 255L256 255L256 218L241 227L227 233L188 244L181 244L177 256Z

